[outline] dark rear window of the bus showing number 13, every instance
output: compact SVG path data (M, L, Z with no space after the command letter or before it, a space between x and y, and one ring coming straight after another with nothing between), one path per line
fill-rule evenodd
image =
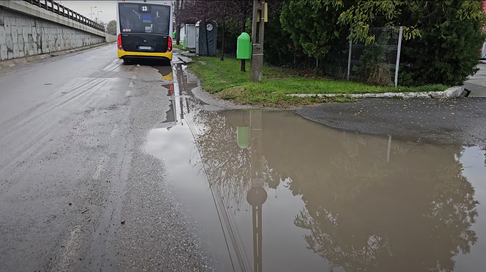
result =
M121 32L169 34L170 6L119 3L118 7Z

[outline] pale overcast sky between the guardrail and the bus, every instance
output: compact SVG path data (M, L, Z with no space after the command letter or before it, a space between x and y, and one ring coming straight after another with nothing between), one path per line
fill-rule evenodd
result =
M117 0L57 0L56 2L86 16L87 18L91 18L90 7L96 7L93 8L93 20L98 17L98 11L101 11L99 13L100 20L105 23L117 19Z

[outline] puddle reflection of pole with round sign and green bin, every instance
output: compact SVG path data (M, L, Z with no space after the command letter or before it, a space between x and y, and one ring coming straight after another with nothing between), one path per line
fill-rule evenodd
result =
M267 200L263 180L264 156L261 154L262 122L261 111L249 112L249 125L245 121L247 112L243 112L237 126L237 141L241 148L251 148L251 188L246 193L246 201L252 207L253 222L253 265L254 272L262 271L262 208Z

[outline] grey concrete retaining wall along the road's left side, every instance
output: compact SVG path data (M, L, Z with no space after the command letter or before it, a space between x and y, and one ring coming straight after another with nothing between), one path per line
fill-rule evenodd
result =
M25 1L0 0L0 60L100 44L106 36Z

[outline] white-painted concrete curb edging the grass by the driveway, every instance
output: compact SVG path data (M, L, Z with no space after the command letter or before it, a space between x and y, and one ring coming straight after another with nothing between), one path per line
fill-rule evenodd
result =
M399 92L399 93L365 93L365 94L288 94L294 97L348 97L348 98L434 98L447 99L454 97L463 97L465 95L464 86L453 86L445 91L439 92Z

